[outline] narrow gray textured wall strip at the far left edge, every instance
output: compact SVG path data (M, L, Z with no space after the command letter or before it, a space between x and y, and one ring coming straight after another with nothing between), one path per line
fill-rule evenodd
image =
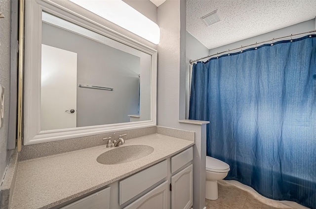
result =
M11 151L7 150L9 107L10 107L10 52L11 52L11 1L0 0L0 84L4 87L4 116L0 128L0 179L3 178L5 167L9 162Z

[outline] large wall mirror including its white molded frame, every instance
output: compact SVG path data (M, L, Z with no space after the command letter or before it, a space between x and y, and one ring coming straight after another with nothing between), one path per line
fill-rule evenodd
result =
M26 1L24 145L156 125L156 50Z

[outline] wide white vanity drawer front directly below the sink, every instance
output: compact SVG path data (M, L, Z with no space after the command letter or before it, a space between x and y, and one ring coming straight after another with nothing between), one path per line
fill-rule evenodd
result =
M145 169L131 177L119 181L119 205L145 191L161 179L167 177L167 160Z

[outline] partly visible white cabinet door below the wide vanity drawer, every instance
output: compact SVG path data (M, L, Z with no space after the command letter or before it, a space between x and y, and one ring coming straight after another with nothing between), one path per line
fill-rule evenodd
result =
M124 209L167 209L168 181L151 190Z

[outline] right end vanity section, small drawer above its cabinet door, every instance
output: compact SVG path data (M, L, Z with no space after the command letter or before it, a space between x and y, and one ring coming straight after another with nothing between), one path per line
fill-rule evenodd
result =
M192 160L192 147L171 157L171 209L190 209L193 205Z

